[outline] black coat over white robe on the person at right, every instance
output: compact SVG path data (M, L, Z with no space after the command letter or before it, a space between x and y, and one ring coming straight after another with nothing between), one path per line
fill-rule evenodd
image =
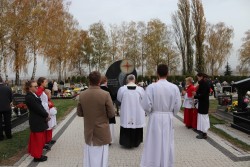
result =
M194 96L195 99L198 99L199 114L208 114L209 93L210 93L209 83L204 79L200 80L198 90L196 91L196 95Z

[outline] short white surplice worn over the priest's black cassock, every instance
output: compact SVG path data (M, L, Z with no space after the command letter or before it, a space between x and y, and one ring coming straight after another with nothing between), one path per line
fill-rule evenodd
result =
M128 86L135 86L136 89L128 89ZM123 128L142 128L145 126L145 111L142 108L142 100L145 98L145 91L135 84L124 85L119 88L117 100L121 102L121 126Z

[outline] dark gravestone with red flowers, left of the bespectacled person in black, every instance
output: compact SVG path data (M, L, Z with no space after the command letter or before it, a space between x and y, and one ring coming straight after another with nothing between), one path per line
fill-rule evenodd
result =
M25 95L13 94L13 105L14 105L14 112L16 113L17 116L20 116L27 112Z

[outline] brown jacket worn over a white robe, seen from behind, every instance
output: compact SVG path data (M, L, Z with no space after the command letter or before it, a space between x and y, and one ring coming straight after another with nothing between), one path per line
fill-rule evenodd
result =
M111 142L109 118L115 116L110 94L99 86L90 86L79 95L77 115L84 117L84 137L88 145L101 146Z

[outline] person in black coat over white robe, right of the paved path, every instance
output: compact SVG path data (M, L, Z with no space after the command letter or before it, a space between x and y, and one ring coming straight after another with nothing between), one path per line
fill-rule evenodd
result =
M194 98L198 99L197 130L199 130L201 133L196 136L196 138L206 139L207 131L210 128L210 121L208 116L210 86L206 80L206 74L198 73L197 78L199 87L196 93L194 93Z

